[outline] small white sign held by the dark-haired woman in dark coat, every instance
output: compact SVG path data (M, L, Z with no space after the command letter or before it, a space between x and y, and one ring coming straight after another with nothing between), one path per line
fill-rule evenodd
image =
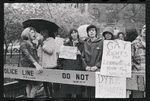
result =
M77 47L62 45L60 48L59 58L76 60L77 58L76 53L77 53Z

